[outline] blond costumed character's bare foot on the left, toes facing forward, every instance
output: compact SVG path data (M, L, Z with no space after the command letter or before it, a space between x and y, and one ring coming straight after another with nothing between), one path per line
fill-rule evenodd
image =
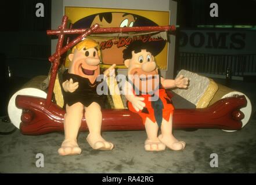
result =
M81 149L77 144L76 140L65 139L62 143L62 147L58 150L60 156L67 155L79 155L81 154Z

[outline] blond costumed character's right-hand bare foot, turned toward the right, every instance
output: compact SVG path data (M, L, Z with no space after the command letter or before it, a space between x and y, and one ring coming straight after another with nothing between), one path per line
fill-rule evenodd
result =
M112 143L104 140L101 135L88 134L86 140L95 150L112 150L114 147Z

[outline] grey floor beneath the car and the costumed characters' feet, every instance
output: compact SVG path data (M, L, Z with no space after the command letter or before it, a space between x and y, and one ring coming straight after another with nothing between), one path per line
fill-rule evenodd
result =
M215 79L218 83L224 80ZM254 82L232 81L230 87L247 95L256 108ZM0 131L12 125L0 123ZM167 149L164 152L147 152L143 143L145 131L103 132L106 140L113 142L112 151L93 150L81 132L78 144L80 156L59 156L62 133L22 135L17 129L13 134L0 135L1 173L256 173L256 120L251 116L248 124L236 132L220 129L184 131L175 129L174 135L185 140L181 152ZM211 158L211 154L214 157ZM216 155L217 154L217 155ZM39 156L37 156L39 155ZM42 157L44 163L42 163ZM215 165L210 165L215 159ZM39 160L39 161L38 161ZM44 167L37 165L44 164Z

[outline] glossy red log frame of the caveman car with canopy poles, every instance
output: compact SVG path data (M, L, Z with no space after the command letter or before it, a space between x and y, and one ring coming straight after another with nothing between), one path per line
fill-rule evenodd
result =
M48 35L59 35L56 53L49 57L49 61L53 62L53 65L47 96L44 98L34 97L29 92L23 95L14 95L15 102L13 103L15 103L16 108L22 110L21 114L11 113L14 111L9 110L8 106L8 112L12 122L15 122L13 120L21 120L21 123L16 124L16 127L20 128L22 134L39 135L64 131L63 123L66 111L52 101L53 87L55 86L57 69L60 64L60 56L80 42L82 38L92 33L173 31L175 29L173 26L99 28L98 24L93 25L89 29L66 29L67 20L68 17L64 16L59 30L47 31ZM81 35L62 47L65 34ZM226 131L241 129L250 118L251 104L246 95L238 94L230 95L226 98L222 97L222 99L205 108L175 109L173 127L175 129L218 128L225 129ZM103 109L102 116L102 131L145 129L141 117L128 109ZM84 117L82 118L80 131L88 131Z

